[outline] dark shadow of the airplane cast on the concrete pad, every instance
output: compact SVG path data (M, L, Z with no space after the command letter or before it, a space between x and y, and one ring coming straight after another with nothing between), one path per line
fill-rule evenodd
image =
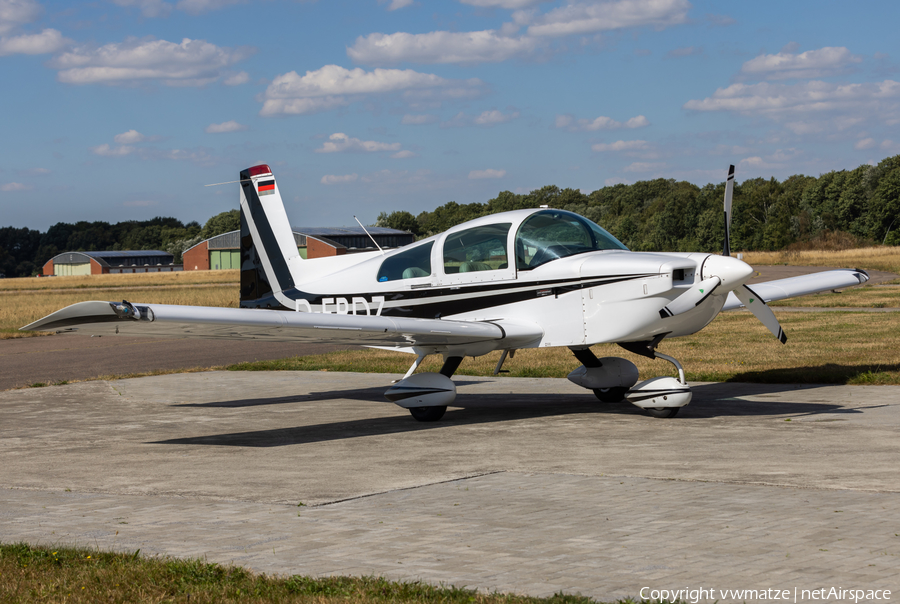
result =
M365 436L381 436L398 433L413 433L426 430L440 430L454 426L482 425L509 422L522 419L536 419L565 415L593 414L602 416L642 416L651 422L678 422L682 419L709 419L739 416L808 416L822 413L861 413L855 409L824 402L797 403L784 400L779 393L799 389L813 389L820 386L797 386L785 384L702 384L694 388L694 400L672 419L655 419L644 416L640 409L630 403L600 403L591 394L471 394L460 393L453 407L438 422L417 422L409 415L373 417L329 423L275 428L250 432L211 434L189 438L175 438L148 444L167 445L216 445L233 447L283 447L333 440L344 440ZM302 397L277 397L274 399L243 399L202 403L200 407L252 407L265 404L286 404L291 402L318 402L337 399L352 399L387 403L384 388L364 388L314 393ZM743 396L772 396L767 400L743 400ZM399 411L399 409L398 409ZM341 409L334 407L334 416L340 417Z

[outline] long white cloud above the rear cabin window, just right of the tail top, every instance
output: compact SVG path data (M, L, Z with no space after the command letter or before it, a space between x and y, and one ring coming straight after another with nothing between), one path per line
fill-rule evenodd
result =
M347 105L353 98L371 94L429 93L443 96L476 94L484 87L481 80L447 80L412 69L345 69L326 65L301 76L296 71L277 76L259 100L260 115L288 115L325 111Z

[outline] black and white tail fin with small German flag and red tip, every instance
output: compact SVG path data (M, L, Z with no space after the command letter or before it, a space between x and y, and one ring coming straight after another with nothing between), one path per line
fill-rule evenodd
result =
M269 166L241 171L241 306L292 308L303 259Z

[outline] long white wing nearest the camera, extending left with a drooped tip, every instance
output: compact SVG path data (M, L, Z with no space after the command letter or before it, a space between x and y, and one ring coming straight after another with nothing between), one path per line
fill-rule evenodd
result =
M543 336L543 331L535 324L504 320L408 319L125 301L79 302L21 329L88 335L424 348L479 343L496 343L496 348L519 347Z

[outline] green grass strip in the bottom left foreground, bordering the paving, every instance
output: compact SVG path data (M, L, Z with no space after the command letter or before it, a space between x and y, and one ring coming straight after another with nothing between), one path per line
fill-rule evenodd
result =
M71 547L0 544L2 602L349 602L397 604L594 604L577 595L549 598L485 594L379 577L279 577L237 566ZM620 600L632 604L632 600Z

